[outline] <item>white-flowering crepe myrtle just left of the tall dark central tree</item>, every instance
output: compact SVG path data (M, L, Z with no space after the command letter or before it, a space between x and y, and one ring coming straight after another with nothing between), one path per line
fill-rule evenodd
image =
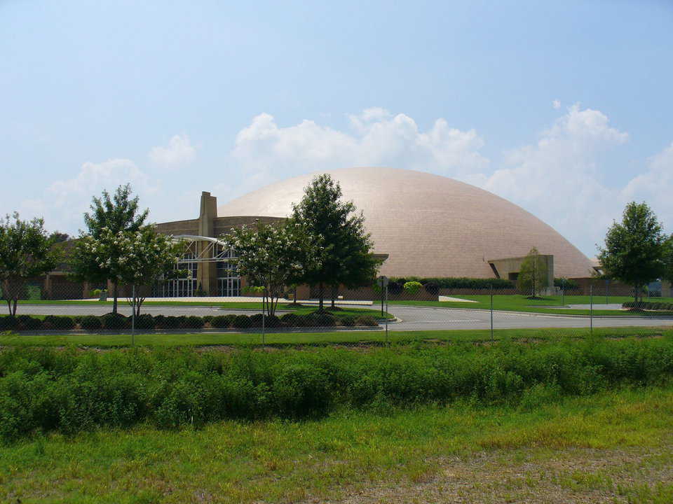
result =
M253 285L264 288L263 306L268 315L276 313L278 298L308 267L317 267L320 247L311 243L305 230L292 219L282 224L232 228L221 237L236 251L238 273Z

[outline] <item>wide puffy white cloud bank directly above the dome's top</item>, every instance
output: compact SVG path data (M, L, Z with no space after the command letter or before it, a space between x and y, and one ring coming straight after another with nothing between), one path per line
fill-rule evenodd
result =
M484 141L474 130L449 127L444 119L422 132L405 114L374 107L348 117L351 131L341 132L313 120L278 127L262 113L236 136L231 153L248 177L274 179L351 166L406 167L443 174L487 169L479 153Z

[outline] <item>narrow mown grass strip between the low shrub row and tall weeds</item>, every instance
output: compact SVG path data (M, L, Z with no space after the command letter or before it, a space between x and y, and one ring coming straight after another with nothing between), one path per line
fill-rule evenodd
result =
M594 328L596 337L648 337L672 335L671 328L624 327ZM494 339L512 340L556 340L562 338L585 338L590 330L585 328L559 329L497 329ZM261 334L226 332L222 334L140 334L135 335L136 346L294 346L294 345L355 345L408 343L408 342L489 342L489 330L426 330L386 332L383 330L358 330L334 332L277 332L267 333L262 342ZM11 332L0 333L0 346L87 346L91 348L116 348L131 346L130 335L20 335Z

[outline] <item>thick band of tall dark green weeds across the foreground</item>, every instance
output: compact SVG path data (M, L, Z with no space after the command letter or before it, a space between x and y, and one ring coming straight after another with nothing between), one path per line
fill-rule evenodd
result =
M0 439L99 426L195 426L320 416L337 408L521 407L673 377L673 338L231 353L0 351Z

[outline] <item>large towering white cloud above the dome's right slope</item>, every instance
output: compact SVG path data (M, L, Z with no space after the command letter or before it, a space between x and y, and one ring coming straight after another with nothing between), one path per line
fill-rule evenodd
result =
M627 133L611 127L601 111L573 105L541 133L537 144L506 153L504 168L473 179L531 211L592 256L626 202L638 193L652 200L656 184L658 190L661 184L673 188L671 176L668 180L662 176L673 160L672 148L672 152L655 156L648 171L626 187L611 188L604 183L609 176L601 165L604 153L628 138ZM665 204L662 201L660 207Z

